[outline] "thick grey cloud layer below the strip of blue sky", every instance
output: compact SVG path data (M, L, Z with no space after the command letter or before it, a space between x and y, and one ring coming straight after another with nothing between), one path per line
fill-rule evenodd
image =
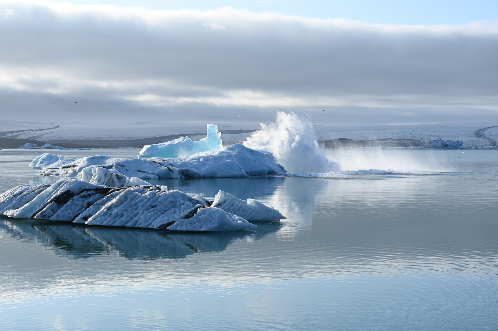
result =
M0 8L2 113L69 118L75 98L100 113L123 105L220 116L324 107L386 118L400 110L498 112L495 23L372 25L231 8Z

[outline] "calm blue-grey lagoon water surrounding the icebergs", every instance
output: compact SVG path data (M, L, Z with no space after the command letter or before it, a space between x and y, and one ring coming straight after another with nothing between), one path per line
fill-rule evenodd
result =
M498 151L404 152L355 162L438 172L157 181L288 217L256 231L0 217L1 330L498 330ZM0 151L0 192L58 180L39 153ZM98 153L136 151L64 155Z

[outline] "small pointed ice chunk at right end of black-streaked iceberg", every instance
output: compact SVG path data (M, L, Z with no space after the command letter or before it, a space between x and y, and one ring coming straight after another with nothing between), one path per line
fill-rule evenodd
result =
M223 191L218 192L211 207L221 208L229 214L251 221L286 219L273 207L267 207L254 199L242 200Z

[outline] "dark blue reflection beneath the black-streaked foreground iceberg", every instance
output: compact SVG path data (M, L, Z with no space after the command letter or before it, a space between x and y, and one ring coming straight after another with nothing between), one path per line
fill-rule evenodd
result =
M272 225L278 223L272 223ZM184 258L194 253L220 252L240 239L257 240L280 226L259 226L255 231L191 232L92 226L68 222L11 219L0 216L0 230L19 240L35 242L73 258L115 254L126 259Z

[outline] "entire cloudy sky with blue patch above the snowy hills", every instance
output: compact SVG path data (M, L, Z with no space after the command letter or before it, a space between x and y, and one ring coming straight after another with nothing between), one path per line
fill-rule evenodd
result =
M315 125L496 125L497 13L497 0L0 0L0 120L249 127L292 110Z

